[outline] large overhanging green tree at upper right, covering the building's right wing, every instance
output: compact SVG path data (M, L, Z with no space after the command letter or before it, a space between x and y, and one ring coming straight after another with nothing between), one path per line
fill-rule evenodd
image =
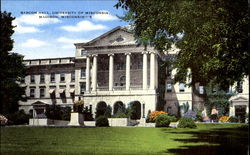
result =
M119 0L123 20L139 44L166 52L175 44L175 81L217 83L222 89L249 75L248 4L245 0ZM188 72L191 70L191 73Z

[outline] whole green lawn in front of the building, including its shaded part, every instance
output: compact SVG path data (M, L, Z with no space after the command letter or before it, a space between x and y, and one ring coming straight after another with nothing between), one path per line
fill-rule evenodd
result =
M1 154L247 154L248 128L1 128Z

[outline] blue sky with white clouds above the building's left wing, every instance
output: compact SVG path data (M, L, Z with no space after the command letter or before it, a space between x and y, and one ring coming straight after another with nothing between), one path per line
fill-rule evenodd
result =
M124 15L124 10L116 9L116 3L116 0L2 0L1 10L16 17L12 23L16 26L12 52L24 55L24 59L42 59L74 57L74 43L87 42L117 26L128 25L117 18Z

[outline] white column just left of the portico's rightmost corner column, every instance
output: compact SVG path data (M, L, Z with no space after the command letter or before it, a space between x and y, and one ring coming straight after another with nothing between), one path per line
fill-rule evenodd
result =
M143 75L142 75L142 88L148 88L148 52L144 51L143 54Z

